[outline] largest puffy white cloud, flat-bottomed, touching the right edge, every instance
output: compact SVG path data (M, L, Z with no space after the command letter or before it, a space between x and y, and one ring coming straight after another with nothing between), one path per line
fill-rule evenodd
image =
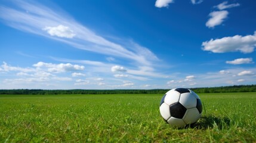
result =
M254 35L233 37L224 37L221 39L211 39L202 43L203 51L211 51L216 53L223 52L243 52L251 53L256 46L256 32Z

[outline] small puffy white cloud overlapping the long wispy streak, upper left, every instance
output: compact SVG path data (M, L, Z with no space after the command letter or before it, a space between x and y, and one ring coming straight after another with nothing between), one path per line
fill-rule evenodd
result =
M47 33L50 34L51 36L58 36L60 38L73 38L75 36L75 33L73 33L73 30L63 25L59 25L57 27L47 26L42 30L47 31Z

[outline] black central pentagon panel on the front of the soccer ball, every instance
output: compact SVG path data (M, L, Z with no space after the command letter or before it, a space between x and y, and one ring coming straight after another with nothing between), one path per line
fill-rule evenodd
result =
M180 102L176 102L170 105L171 117L182 119L186 111L187 111L186 107L180 104Z

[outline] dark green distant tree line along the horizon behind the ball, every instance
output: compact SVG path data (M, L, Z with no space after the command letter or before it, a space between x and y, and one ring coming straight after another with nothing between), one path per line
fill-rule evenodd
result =
M190 88L200 93L256 92L256 85L234 85L212 88ZM57 95L57 94L165 94L170 89L115 89L115 90L43 90L43 89L0 89L0 94Z

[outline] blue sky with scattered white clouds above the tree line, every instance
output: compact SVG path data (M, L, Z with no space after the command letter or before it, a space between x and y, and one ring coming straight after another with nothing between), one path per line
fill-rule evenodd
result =
M256 1L0 1L0 89L256 83Z

